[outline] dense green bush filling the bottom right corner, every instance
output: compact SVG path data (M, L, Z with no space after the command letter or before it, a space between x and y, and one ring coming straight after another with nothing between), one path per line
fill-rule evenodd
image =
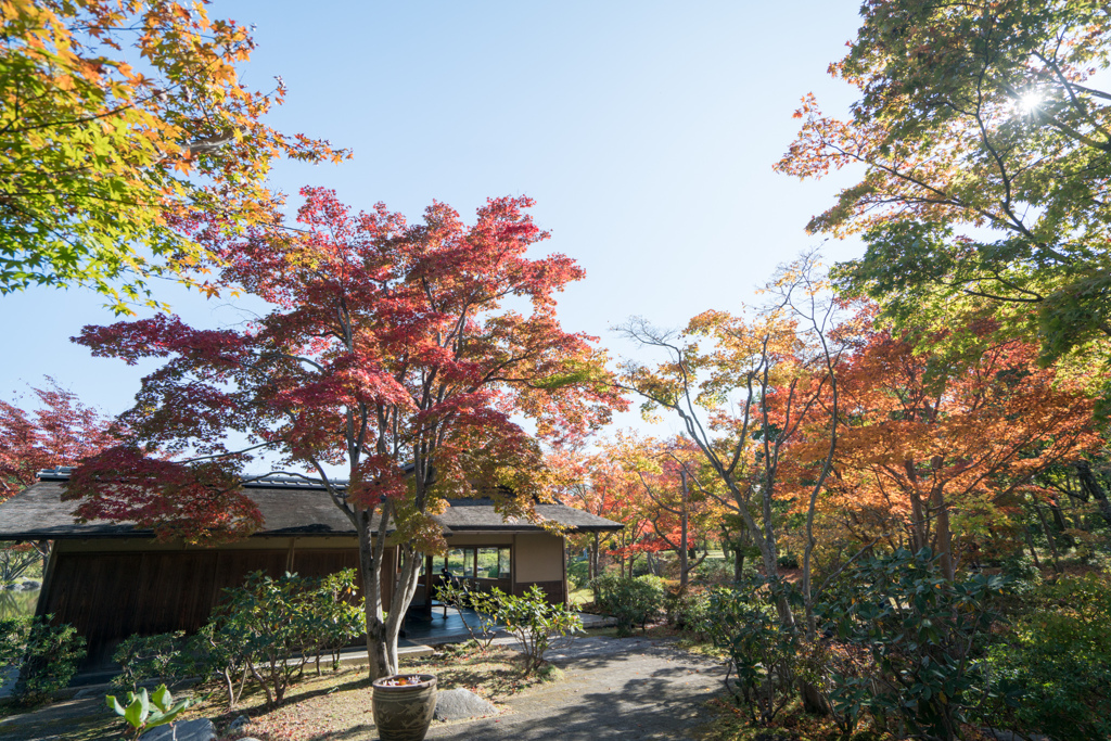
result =
M1111 585L1064 577L1027 599L1028 613L988 653L999 691L987 720L1055 741L1111 738Z

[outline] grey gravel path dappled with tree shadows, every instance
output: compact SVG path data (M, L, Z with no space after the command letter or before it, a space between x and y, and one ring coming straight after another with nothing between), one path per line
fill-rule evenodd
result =
M434 724L429 739L689 739L721 663L643 638L582 638L550 654L565 679L506 701L507 712Z

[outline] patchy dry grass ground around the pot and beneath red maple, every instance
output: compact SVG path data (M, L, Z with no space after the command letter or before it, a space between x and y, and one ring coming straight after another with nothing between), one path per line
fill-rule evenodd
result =
M467 688L493 703L558 674L538 672L531 678L521 675L520 654L503 647L491 647L487 653L478 650L457 649L424 659L401 660L403 673L436 674L442 690ZM311 668L304 679L290 688L286 702L273 710L263 707L261 690L244 693L234 710L227 709L227 700L218 685L206 685L192 691L199 703L182 718L211 718L222 730L239 715L247 715L251 723L231 738L254 737L261 741L323 740L362 738L372 727L371 687L364 668L324 671L317 677ZM22 712L11 707L0 707L0 717ZM124 723L104 705L102 697L87 700L58 702L0 724L0 739L39 739L64 734L72 741L130 738ZM221 737L223 738L223 737Z

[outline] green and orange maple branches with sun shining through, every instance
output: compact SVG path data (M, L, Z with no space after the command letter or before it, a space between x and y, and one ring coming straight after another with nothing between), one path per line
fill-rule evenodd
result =
M809 230L863 232L843 286L895 324L992 313L1043 360L1107 356L1111 338L1111 53L1102 0L867 0L830 73L852 117L812 96L778 163L863 178ZM949 337L954 337L952 333Z

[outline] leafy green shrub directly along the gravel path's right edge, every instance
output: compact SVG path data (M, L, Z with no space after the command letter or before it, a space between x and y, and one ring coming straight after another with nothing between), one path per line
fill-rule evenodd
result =
M790 584L755 577L709 598L705 631L725 652L725 687L761 725L794 698L800 635L774 608L775 598L793 595Z

